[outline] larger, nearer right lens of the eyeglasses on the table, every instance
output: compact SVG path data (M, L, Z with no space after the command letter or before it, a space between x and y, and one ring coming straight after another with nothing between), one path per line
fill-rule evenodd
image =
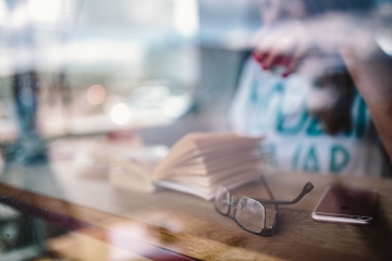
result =
M245 229L259 233L265 225L265 209L260 202L243 197L236 206L234 217Z

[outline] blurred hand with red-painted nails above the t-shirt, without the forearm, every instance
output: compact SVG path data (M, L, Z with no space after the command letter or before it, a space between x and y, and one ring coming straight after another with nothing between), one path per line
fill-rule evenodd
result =
M302 22L286 22L264 26L254 37L253 58L264 70L281 65L282 76L296 70L301 60L315 50Z

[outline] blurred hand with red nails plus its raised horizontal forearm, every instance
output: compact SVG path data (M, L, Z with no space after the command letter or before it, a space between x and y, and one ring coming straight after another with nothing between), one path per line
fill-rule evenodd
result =
M285 66L283 76L298 69L307 55L335 55L341 46L356 45L366 50L366 18L340 13L319 15L306 21L286 21L265 25L254 37L254 59L265 70Z

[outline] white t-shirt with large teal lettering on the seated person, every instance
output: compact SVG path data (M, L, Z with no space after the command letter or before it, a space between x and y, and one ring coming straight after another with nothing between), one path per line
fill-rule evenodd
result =
M271 163L281 170L380 176L384 167L378 135L359 95L352 105L353 128L328 135L306 109L304 77L262 71L249 59L230 111L240 135L266 135Z

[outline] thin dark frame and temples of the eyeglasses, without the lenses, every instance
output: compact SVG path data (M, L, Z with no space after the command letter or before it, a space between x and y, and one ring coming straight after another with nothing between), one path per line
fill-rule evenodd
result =
M241 197L240 199L235 198L234 196L231 196L230 194L230 190L222 185L222 187L225 188L225 190L228 191L229 194L229 208L228 208L228 211L226 213L222 213L221 211L219 211L218 207L217 207L217 197L213 201L213 206L215 206L215 209L217 210L218 213L220 213L221 215L224 215L224 216L228 216L232 220L235 221L235 223L243 229L247 231L247 232L250 232L252 234L255 234L257 236L261 236L261 237L271 237L273 235L277 235L278 234L278 220L279 220L279 207L278 204L293 204L293 203L296 203L298 202L306 194L310 192L310 190L314 188L314 185L308 182L305 184L302 192L298 195L298 197L296 197L295 199L291 200L291 201L284 201L284 200L274 200L274 197L271 192L271 189L269 188L266 179L264 176L260 176L260 181L261 183L265 185L266 189L267 189L267 192L269 195L269 197L271 198L270 200L266 200L266 199L253 199L253 198L249 198L249 197ZM240 200L243 200L243 199L250 199L250 200L255 200L257 202L259 202L262 207L262 211L264 211L264 224L262 224L262 228L260 232L254 232L254 231L249 231L247 229L246 227L244 227L235 217L235 213L237 211L237 203ZM274 214L274 219L273 219L273 222L272 222L272 226L271 227L267 227L266 226L266 220L267 220L267 215L266 215L266 209L265 207L262 206L262 203L265 204L274 204L275 207L275 214ZM232 212L232 207L234 207L234 213L233 215L230 215L230 213Z

